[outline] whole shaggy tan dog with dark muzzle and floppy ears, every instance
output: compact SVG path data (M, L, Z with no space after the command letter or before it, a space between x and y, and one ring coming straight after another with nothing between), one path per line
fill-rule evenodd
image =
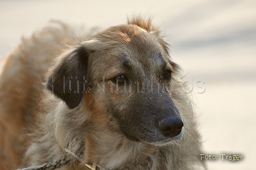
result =
M53 21L6 57L0 169L206 169L181 68L152 19L74 30Z

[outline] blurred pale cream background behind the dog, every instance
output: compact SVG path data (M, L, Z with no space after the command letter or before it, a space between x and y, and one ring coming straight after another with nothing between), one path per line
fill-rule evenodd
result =
M254 169L256 141L256 1L0 0L0 58L50 19L89 29L154 16L171 56L194 85L202 154L209 169ZM196 87L201 82L202 88ZM204 83L204 84L203 84ZM192 86L192 85L191 85ZM204 92L203 92L204 91ZM203 93L202 93L203 92ZM240 162L220 154L243 155Z

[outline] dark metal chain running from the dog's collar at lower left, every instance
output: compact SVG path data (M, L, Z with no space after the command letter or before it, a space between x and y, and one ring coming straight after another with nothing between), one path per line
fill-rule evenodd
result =
M16 170L52 170L56 168L60 168L69 163L69 159L67 156L63 156L61 159L58 159L54 162L49 162L43 165L39 165L37 167L28 167L23 169L16 169Z

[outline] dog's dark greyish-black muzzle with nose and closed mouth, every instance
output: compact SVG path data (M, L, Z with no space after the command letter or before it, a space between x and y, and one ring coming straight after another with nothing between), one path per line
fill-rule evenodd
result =
M155 100L150 100L151 105L138 103L128 107L127 111L112 111L113 120L119 127L120 133L131 141L156 146L168 145L180 140L184 129L178 108L171 99L169 100L170 104L162 106L156 106L158 102L152 103ZM139 109L131 109L134 107Z

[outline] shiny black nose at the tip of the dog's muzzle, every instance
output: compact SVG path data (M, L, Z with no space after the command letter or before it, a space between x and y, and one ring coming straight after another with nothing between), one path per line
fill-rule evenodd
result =
M165 137L175 137L182 131L183 122L179 117L164 118L159 122L161 133Z

